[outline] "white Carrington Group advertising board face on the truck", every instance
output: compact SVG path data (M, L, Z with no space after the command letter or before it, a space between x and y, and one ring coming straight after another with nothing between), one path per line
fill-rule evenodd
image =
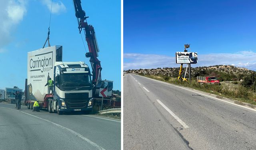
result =
M28 100L43 101L49 78L54 80L56 46L28 52Z

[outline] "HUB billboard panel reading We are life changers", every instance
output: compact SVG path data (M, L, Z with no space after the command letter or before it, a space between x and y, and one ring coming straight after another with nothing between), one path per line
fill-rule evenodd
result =
M196 64L197 52L176 52L176 64Z

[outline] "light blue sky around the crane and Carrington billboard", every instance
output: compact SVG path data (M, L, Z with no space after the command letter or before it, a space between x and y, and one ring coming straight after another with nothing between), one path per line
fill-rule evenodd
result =
M44 45L51 4L52 0L0 1L0 89L14 86L25 89L27 52ZM114 81L113 90L121 90L121 1L82 0L82 8L89 16L88 24L94 26L96 32L102 80ZM88 52L84 34L82 38ZM73 1L53 0L51 46L63 46L63 61L84 61L90 67L83 40Z

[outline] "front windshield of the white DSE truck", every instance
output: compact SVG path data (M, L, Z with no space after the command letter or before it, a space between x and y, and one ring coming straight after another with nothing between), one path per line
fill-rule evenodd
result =
M88 74L62 74L61 84L63 86L89 86L90 76Z

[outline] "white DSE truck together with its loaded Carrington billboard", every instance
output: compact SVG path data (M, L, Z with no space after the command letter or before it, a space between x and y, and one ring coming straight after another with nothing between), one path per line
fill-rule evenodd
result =
M91 72L84 62L62 62L62 46L51 46L28 52L26 105L33 108L39 100L40 108L50 113L92 110ZM45 86L54 80L53 92Z

